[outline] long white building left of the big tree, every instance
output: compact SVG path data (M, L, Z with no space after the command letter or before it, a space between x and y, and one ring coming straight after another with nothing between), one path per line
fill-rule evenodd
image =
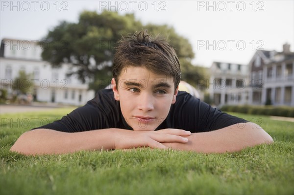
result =
M12 85L27 86L28 82L17 83L14 79L19 71L32 73L34 101L54 102L71 105L83 105L95 96L94 90L88 90L88 84L82 84L77 77L67 76L73 67L63 64L53 68L42 61L42 47L36 41L3 39L0 48L0 88L12 94Z

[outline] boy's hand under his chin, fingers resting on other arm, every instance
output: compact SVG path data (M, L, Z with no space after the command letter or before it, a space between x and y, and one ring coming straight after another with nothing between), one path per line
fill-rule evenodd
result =
M157 131L120 130L115 132L115 149L131 149L138 147L150 147L168 149L162 143L187 143L188 139L182 136L191 135L190 131L178 129L164 129Z

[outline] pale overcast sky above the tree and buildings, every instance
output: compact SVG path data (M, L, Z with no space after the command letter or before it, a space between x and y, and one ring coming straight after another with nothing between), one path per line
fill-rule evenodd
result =
M12 3L11 3L12 2ZM41 40L60 21L77 22L82 10L134 13L144 24L168 24L187 38L193 64L248 64L256 49L294 48L294 0L1 0L0 39Z

